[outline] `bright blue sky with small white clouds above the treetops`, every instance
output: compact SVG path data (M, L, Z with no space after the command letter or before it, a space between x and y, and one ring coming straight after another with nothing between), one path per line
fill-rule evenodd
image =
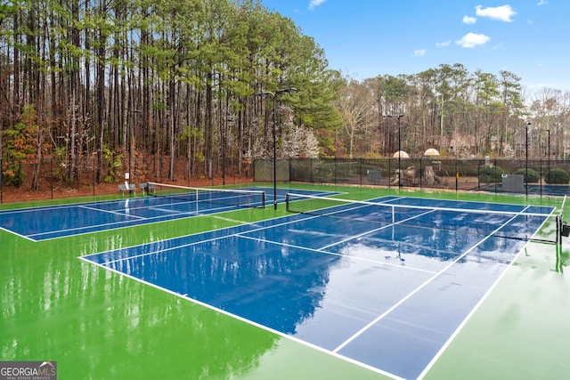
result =
M362 80L461 63L570 91L569 0L262 0L314 38L330 69Z

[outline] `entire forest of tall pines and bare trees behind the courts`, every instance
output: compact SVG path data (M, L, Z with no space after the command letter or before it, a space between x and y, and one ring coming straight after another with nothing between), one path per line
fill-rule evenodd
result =
M357 81L257 0L12 0L0 5L2 171L17 184L15 158L55 158L74 182L92 159L113 182L109 167L142 177L160 159L173 180L183 158L211 178L225 158L273 157L273 99L254 95L289 87L279 158L391 156L398 133L411 155L515 157L529 138L532 157L566 158L570 93L520 80L457 63Z

